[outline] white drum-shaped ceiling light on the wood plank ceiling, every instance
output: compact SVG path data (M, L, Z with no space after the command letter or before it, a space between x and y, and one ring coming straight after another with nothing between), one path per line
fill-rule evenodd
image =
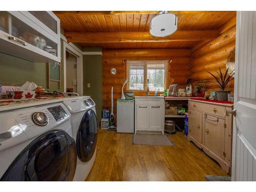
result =
M150 22L150 34L156 37L165 37L177 30L177 15L161 11Z

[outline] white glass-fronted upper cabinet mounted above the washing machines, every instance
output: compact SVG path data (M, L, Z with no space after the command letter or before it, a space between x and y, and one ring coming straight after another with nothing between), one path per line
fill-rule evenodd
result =
M51 11L0 11L0 52L60 62L60 21Z

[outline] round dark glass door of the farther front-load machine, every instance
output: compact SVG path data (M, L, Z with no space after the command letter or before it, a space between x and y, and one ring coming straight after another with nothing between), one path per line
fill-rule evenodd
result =
M76 136L77 155L82 162L90 161L93 157L96 149L97 134L96 114L90 109L84 113Z

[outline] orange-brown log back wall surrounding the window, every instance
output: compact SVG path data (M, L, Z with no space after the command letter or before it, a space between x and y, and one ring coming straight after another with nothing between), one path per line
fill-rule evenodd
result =
M186 78L191 75L190 49L127 49L102 51L102 107L111 108L111 87L114 87L114 100L121 97L122 84L126 78L124 60L172 60L168 66L168 79L174 78L174 83L184 88ZM111 75L115 68L117 73ZM169 82L167 83L169 86ZM124 89L125 90L125 89ZM145 91L136 92L136 96L145 95ZM153 95L154 93L150 93Z

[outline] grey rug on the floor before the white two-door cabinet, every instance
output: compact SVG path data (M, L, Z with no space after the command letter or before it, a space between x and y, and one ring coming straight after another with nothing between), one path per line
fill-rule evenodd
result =
M173 146L173 141L167 135L136 134L132 136L132 144L136 145L167 145Z

